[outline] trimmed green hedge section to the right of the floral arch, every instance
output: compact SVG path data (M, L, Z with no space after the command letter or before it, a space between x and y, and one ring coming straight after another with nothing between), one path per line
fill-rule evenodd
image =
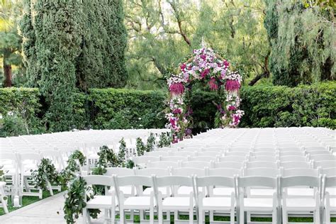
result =
M242 127L336 128L336 82L311 86L252 86L240 91Z

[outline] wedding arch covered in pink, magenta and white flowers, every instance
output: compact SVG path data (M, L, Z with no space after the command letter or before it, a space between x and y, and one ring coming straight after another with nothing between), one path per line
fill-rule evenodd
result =
M167 78L169 86L169 113L167 128L172 130L173 142L191 137L192 109L189 105L191 89L195 83L207 86L218 94L218 102L213 102L218 111L215 125L220 128L235 128L240 123L244 111L239 109L239 89L242 77L233 72L228 60L223 59L211 48L194 50L177 74Z

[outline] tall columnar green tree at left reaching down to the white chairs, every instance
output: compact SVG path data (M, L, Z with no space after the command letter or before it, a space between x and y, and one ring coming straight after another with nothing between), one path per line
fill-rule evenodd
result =
M23 17L22 32L25 39L31 38L23 45L30 82L35 82L45 97L45 119L50 130L69 130L76 84L74 60L82 42L79 20L82 10L76 0L26 1L26 4L30 13Z

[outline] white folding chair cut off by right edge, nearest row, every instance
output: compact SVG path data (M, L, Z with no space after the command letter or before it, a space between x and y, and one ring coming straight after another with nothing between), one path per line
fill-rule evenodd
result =
M323 177L323 206L325 212L323 213L326 224L330 224L330 213L336 213L336 176Z

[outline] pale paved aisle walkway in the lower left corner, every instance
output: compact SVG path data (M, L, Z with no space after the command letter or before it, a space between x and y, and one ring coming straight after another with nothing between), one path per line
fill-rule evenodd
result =
M29 206L0 216L0 223L11 224L64 224L63 206L65 192L45 198ZM79 220L82 223L82 219Z

